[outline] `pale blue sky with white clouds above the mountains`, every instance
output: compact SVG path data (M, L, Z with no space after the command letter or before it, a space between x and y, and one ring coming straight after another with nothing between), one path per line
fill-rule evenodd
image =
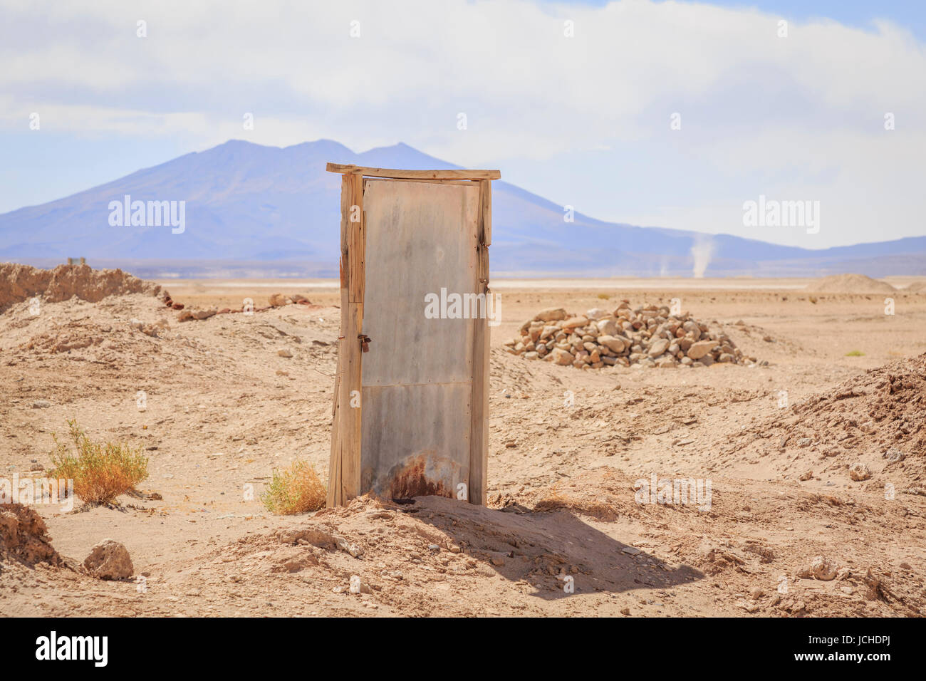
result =
M924 17L885 1L0 0L0 213L232 138L326 138L499 169L607 221L807 248L923 235ZM760 196L811 202L819 229L747 224Z

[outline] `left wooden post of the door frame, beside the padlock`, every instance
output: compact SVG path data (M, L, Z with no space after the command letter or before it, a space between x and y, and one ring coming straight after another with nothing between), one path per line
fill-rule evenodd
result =
M343 506L360 492L361 342L366 270L366 216L363 175L341 179L341 336L334 379L332 455L328 506Z

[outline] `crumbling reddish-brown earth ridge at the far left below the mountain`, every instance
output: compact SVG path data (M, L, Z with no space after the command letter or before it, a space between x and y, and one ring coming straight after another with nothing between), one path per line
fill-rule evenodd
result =
M143 293L166 296L153 282L121 270L94 270L89 265L58 265L40 270L11 262L0 264L0 311L31 297L56 303L77 296L91 303L106 296Z

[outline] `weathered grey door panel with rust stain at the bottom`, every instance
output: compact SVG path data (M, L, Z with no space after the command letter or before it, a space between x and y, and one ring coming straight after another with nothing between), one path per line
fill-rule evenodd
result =
M369 180L361 493L456 496L469 482L473 324L426 296L476 290L479 185Z

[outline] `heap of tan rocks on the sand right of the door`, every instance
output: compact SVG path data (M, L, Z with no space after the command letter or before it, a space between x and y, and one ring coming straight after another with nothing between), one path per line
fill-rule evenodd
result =
M506 350L524 359L544 359L577 369L607 366L709 367L716 362L752 364L727 334L711 332L688 312L668 307L631 309L624 300L613 312L590 309L569 315L565 309L541 310L520 327Z

